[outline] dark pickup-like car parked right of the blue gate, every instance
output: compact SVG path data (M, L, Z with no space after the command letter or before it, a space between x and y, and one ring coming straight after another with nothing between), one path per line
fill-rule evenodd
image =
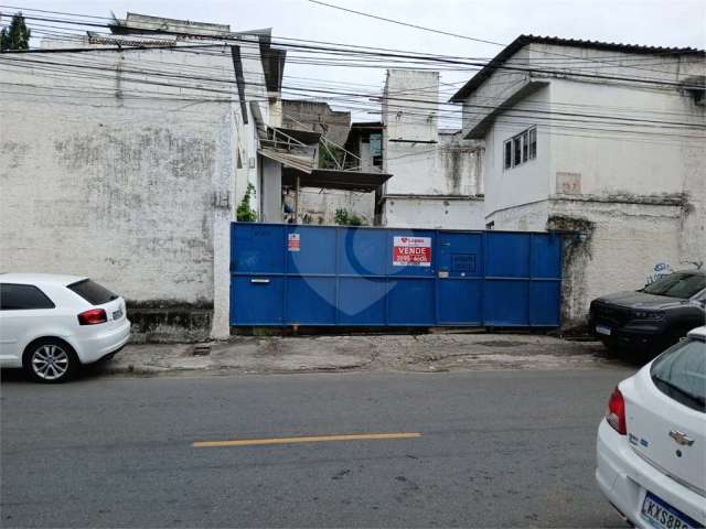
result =
M605 295L591 302L589 325L610 349L660 353L704 325L706 272L674 272L638 291Z

